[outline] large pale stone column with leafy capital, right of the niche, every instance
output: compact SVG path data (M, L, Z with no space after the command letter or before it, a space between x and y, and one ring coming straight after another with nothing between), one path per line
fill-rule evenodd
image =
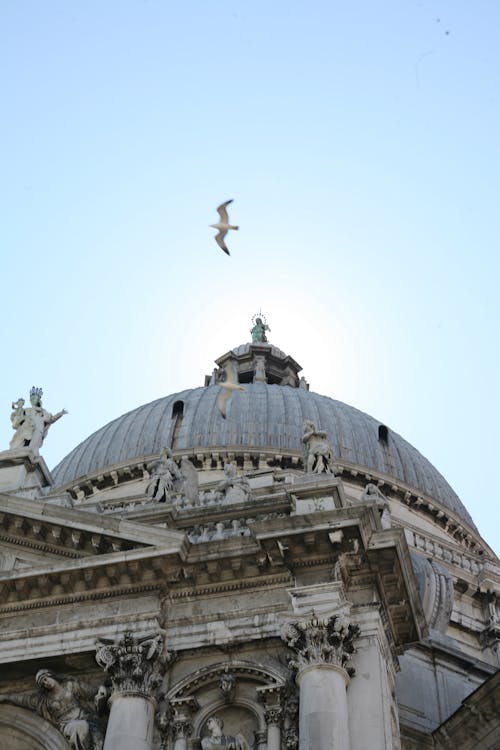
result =
M296 652L299 750L350 750L346 686L357 625L344 614L289 623L282 638Z

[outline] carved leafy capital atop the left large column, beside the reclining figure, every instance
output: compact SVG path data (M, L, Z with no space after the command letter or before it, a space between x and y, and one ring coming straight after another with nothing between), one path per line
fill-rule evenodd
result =
M156 698L172 659L165 648L164 631L141 638L126 632L118 641L96 643L96 661L110 675L114 692Z

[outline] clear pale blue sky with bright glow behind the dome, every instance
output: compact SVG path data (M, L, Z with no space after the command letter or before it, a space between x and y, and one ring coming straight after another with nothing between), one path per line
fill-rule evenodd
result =
M262 308L500 551L499 27L496 0L3 0L2 446L42 386L54 466Z

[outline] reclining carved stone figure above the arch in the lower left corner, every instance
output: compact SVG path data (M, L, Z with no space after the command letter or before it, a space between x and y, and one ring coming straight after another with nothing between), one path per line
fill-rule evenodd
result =
M56 677L49 669L38 671L35 681L36 692L0 695L0 703L36 711L57 727L71 750L102 750L99 716L107 704L107 688L101 685L96 691L72 677Z

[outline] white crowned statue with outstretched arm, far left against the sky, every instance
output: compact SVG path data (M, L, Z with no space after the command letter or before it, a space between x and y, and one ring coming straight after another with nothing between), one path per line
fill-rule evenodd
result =
M50 425L68 413L66 409L62 409L57 414L50 414L42 407L42 395L42 389L33 386L30 390L31 406L25 408L24 398L19 398L12 404L10 421L16 432L10 441L11 449L30 448L38 453Z

